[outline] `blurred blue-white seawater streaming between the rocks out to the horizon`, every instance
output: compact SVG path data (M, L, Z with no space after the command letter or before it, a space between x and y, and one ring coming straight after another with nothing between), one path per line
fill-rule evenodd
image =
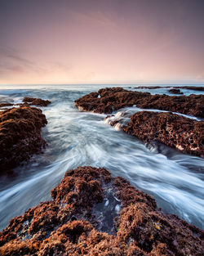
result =
M39 97L52 102L41 108L48 121L42 128L42 137L47 141L44 154L34 155L29 164L22 164L13 174L0 176L0 230L7 227L11 218L50 200L51 189L64 173L84 165L104 167L113 177L125 177L136 188L153 195L166 213L204 229L204 159L166 146L145 146L137 138L105 124L106 115L80 112L74 107L79 97L116 86L171 95L169 88L135 89L138 85L0 86L1 101L19 103L23 97ZM203 93L186 89L181 92Z

